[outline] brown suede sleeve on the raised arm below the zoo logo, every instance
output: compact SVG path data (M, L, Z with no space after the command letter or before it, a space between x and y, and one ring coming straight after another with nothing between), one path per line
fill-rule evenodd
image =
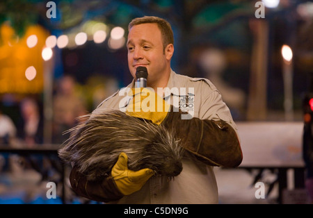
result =
M172 109L163 125L182 140L184 149L208 165L237 167L241 164L239 138L230 124L221 119L182 119L184 112Z

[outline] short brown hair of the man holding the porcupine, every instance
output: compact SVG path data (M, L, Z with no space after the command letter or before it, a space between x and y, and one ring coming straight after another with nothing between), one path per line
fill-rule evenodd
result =
M168 44L174 44L172 27L170 26L170 23L167 22L165 19L154 16L137 17L131 20L131 22L129 23L128 31L131 29L131 27L138 24L157 24L162 35L163 49L165 49Z

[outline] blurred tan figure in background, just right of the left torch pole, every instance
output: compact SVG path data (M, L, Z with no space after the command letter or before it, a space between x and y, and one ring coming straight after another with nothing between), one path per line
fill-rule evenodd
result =
M67 137L63 133L76 126L77 117L86 115L86 103L75 92L76 81L65 75L58 81L54 96L54 143L63 143Z

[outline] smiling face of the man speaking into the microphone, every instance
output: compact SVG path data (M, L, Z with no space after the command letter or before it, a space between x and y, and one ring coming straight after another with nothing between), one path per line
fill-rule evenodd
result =
M158 84L170 69L168 49L164 52L161 31L157 24L138 24L128 35L128 66L131 75L136 78L136 68L147 67L147 85ZM168 77L166 78L168 79Z

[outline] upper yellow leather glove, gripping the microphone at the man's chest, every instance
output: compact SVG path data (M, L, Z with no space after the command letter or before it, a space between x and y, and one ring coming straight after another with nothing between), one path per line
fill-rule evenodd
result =
M128 94L133 99L129 101L126 113L132 117L149 119L159 125L170 111L170 105L152 88L133 88Z

